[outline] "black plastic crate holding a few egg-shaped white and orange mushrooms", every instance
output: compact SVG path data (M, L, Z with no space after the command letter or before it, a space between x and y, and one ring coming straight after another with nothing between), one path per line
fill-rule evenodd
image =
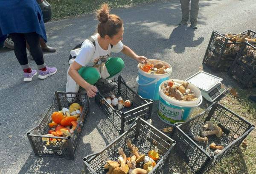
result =
M131 90L121 76L118 76L118 80L116 81L109 84L97 85L97 87L99 93L95 97L96 104L103 110L120 135L128 129L129 125L137 117L143 118L144 120L151 118L153 101L144 99ZM117 98L121 96L123 101L130 100L131 107L123 107L121 110L117 110L117 107L115 107L115 109L105 99L111 94L114 94Z

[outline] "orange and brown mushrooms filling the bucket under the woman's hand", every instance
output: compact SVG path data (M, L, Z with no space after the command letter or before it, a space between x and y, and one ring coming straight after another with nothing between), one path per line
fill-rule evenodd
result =
M159 60L148 60L147 64L139 64L138 68L148 74L171 73L172 67L166 62Z

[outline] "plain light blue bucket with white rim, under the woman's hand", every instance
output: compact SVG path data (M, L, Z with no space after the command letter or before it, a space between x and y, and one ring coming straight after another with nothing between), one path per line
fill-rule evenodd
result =
M158 62L163 63L166 67L171 70L168 73L164 74L149 74L140 69L142 64L138 64L138 76L136 78L138 86L138 94L142 98L148 98L151 100L159 100L159 86L163 81L169 79L172 73L172 67L170 64L163 62L161 60L149 59L152 64L157 64Z

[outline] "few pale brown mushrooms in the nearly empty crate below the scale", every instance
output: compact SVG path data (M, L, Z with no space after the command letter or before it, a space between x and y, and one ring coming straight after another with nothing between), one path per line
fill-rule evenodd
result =
M208 138L209 135L216 135L218 138L220 138L223 135L222 129L219 126L214 125L210 121L206 121L205 125L201 127L201 134L194 136L194 140L201 141L205 144L208 144ZM214 142L212 142L209 147L211 149L216 149L214 151L214 155L220 153L224 147L221 145L216 145Z

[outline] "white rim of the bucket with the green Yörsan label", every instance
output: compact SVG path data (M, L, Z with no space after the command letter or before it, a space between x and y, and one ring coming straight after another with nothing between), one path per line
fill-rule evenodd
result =
M163 81L163 82L159 85L159 95L160 95L161 98L163 98L164 101L166 101L166 102L168 102L168 103L170 103L170 104L174 104L175 106L178 106L178 107L179 107L179 106L180 106L180 107L197 107L197 106L199 106L199 105L202 103L203 97L202 97L202 95L201 95L201 91L199 90L198 87L196 87L195 85L193 85L193 84L191 84L191 83L189 83L189 86L192 86L192 88L193 88L194 91L196 90L195 93L197 93L197 95L199 94L197 100L195 100L195 101L178 101L178 100L175 100L175 99L173 99L173 98L168 97L168 96L167 96L166 94L164 94L163 91L161 90L161 86L162 86L164 83L166 83L167 81L171 81L171 80L173 80L173 81L175 81L175 82L177 82L177 83L180 83L180 82L185 81L185 80L178 80L178 79L168 79L168 80L166 80L166 81ZM191 87L190 87L190 89L191 89Z

